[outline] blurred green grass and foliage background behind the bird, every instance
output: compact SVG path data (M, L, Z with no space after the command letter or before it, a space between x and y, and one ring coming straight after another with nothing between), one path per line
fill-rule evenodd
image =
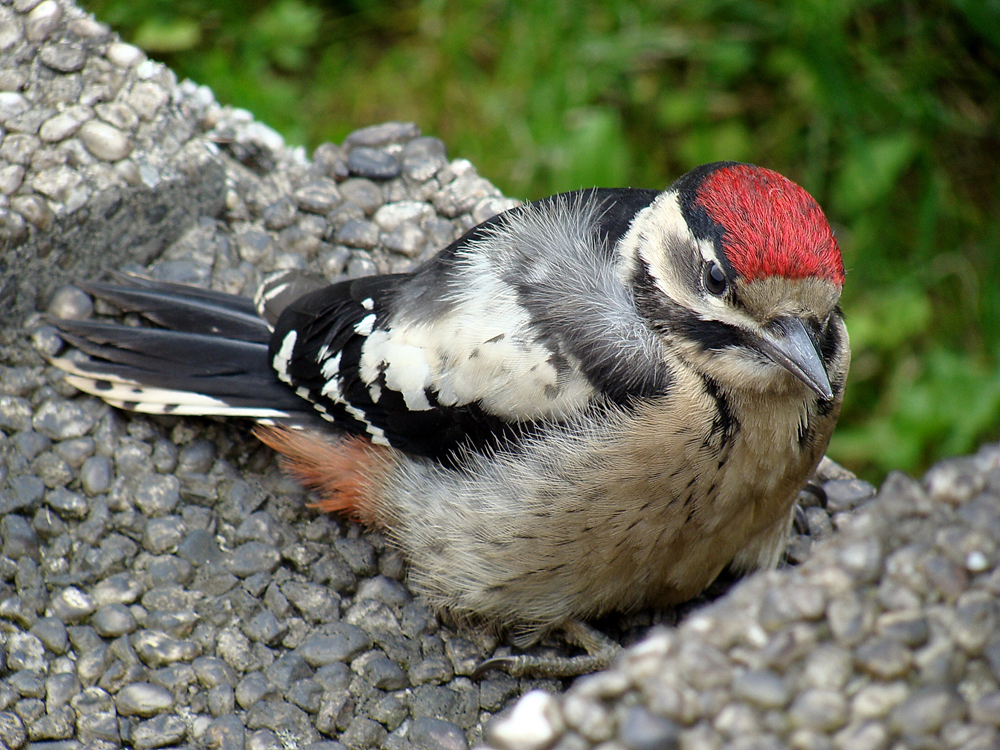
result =
M1000 0L83 0L310 148L413 120L506 194L751 161L844 252L831 454L919 472L1000 436Z

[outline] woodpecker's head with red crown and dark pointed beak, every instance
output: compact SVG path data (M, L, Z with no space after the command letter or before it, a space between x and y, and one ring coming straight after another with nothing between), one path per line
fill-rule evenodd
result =
M636 305L673 351L723 386L843 387L837 302L844 264L804 189L769 169L688 172L641 211L620 245ZM846 364L843 365L846 367Z

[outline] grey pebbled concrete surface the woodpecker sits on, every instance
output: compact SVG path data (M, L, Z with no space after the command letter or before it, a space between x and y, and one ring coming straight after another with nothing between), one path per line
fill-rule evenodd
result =
M107 268L244 295L405 271L517 202L412 123L309 159L62 0L0 3L0 63L3 746L998 746L1000 448L877 498L824 463L797 567L607 618L631 647L572 685L474 681L509 647L414 599L382 537L245 425L80 396L40 313L113 313L72 283Z

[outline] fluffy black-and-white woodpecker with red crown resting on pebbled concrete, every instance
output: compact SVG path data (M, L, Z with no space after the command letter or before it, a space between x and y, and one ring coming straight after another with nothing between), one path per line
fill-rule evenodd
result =
M412 273L301 296L83 284L158 327L57 321L89 359L55 363L121 408L270 425L416 592L530 643L778 563L840 411L843 282L803 188L719 162L528 203Z

